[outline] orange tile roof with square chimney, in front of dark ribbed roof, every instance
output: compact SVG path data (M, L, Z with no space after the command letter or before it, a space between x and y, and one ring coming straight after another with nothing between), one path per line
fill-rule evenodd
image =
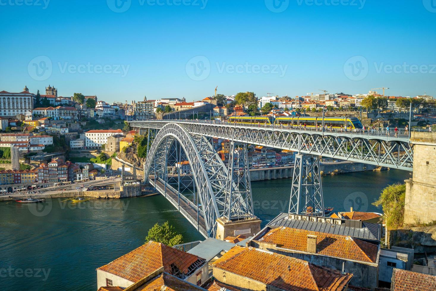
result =
M269 230L259 241L306 252L307 235L317 236L317 254L371 263L375 263L377 260L377 245L344 235L278 227Z

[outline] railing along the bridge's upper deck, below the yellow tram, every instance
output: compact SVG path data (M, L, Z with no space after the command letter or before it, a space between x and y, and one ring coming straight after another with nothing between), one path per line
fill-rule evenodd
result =
M269 124L241 124L238 122L226 122L221 120L189 120L189 119L170 119L173 122L181 123L201 123L210 125L230 125L243 126L255 129L292 129L300 132L316 132L316 133L334 133L334 134L349 134L351 136L371 136L371 137L394 137L394 138L409 138L409 129L404 128L382 128L372 127L368 129L347 129L347 128L330 128L330 127L313 127L304 125L269 125ZM162 120L160 122L169 122L170 120ZM153 121L154 122L154 121ZM426 129L412 129L413 132L428 132Z

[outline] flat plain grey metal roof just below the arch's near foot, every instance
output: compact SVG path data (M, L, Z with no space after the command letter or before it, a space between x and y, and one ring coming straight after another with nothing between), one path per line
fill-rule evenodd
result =
M246 238L245 240L242 240L237 244L240 246L245 246L245 243L249 239L251 239L251 237ZM187 253L202 257L206 259L206 261L210 261L217 254L221 253L221 251L228 251L235 245L236 244L229 243L228 241L217 240L213 237L209 237L206 240L203 240L200 244L193 247L191 250L188 250Z

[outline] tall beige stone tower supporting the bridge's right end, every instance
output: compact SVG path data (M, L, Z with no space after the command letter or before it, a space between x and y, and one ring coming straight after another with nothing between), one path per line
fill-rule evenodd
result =
M436 220L436 132L411 132L413 176L405 180L404 223Z

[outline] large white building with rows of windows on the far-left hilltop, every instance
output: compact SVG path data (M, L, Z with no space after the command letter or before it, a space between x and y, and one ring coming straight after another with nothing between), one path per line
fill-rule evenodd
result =
M0 116L25 115L26 111L32 110L35 95L29 93L24 87L21 93L0 92Z

